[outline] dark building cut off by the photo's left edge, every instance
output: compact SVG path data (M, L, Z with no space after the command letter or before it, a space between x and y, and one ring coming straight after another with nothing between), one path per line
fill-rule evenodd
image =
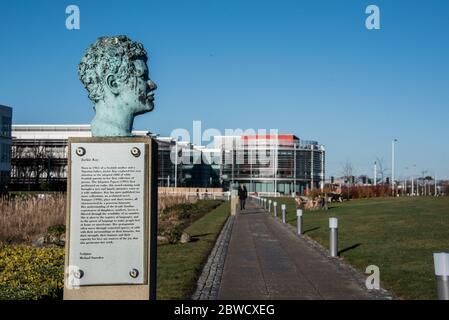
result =
M11 173L12 109L0 105L0 193L9 184Z

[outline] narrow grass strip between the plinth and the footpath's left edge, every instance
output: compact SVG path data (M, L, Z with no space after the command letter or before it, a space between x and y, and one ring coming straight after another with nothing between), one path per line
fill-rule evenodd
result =
M158 246L158 300L191 297L196 289L196 280L229 214L229 202L224 202L185 230L192 236L192 242Z

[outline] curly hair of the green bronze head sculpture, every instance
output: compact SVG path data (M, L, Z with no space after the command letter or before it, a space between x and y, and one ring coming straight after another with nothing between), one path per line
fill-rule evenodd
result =
M127 36L98 38L84 53L78 65L78 76L89 92L89 98L103 99L106 76L115 74L119 82L126 83L134 74L133 60L147 61L143 45Z

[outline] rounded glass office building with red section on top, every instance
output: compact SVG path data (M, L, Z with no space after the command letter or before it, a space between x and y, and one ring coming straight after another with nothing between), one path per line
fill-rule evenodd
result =
M249 192L304 194L323 188L325 149L293 134L216 136L223 185L244 184Z

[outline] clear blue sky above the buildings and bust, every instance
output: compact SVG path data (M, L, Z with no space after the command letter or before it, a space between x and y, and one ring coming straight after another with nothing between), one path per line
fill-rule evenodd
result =
M81 29L65 28L76 4ZM381 30L365 28L365 8ZM76 66L102 35L150 55L155 110L136 129L266 128L317 140L327 175L376 157L449 178L449 1L0 1L0 104L16 124L94 115ZM408 174L411 170L408 171Z

